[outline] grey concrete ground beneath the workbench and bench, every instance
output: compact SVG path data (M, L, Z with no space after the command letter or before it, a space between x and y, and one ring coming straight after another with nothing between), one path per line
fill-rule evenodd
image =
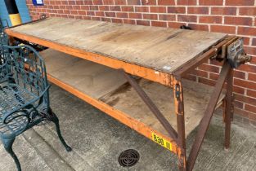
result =
M65 140L73 151L66 152L61 146L54 125L30 129L14 144L24 171L178 170L177 157L168 150L65 90L52 85L51 100L52 109L61 120ZM225 151L222 117L213 116L194 170L256 170L256 128L234 121L231 129L231 148ZM187 139L188 151L195 132ZM139 151L141 158L132 168L124 169L119 166L118 157L129 148ZM2 144L0 170L16 170Z

